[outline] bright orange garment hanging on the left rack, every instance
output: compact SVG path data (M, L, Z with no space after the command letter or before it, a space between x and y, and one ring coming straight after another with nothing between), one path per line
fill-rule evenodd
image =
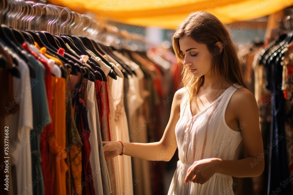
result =
M62 62L53 56L46 54L45 47L35 47L47 58L53 59L58 65ZM51 76L52 83L52 124L53 132L49 133L49 165L52 175L52 183L55 194L66 195L66 172L68 166L65 163L67 152L66 144L66 104L65 104L65 79Z

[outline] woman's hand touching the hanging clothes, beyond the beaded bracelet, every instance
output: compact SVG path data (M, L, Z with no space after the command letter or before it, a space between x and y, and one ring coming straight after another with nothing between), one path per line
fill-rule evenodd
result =
M106 161L122 153L122 144L119 141L103 141L103 150Z

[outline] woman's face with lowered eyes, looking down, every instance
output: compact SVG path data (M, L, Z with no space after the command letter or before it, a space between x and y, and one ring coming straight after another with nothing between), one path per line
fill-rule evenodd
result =
M183 65L188 67L194 77L211 74L212 56L206 44L200 44L185 36L179 39L179 45L184 54Z

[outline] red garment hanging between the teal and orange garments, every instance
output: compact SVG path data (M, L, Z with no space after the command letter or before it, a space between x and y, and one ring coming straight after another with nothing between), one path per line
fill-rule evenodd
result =
M45 66L46 77L44 78L44 81L45 81L45 86L46 86L46 93L47 93L47 100L48 100L50 116L52 116L52 89L51 89L52 83L51 83L50 66L47 63L47 61L45 61L43 58L38 56L35 52L31 51L25 42L22 44L22 47L29 54L33 55L37 60L39 60ZM42 172L43 172L45 195L54 194L52 178L51 178L51 173L50 173L49 149L48 149L48 134L49 134L49 132L52 132L52 131L53 131L53 125L52 125L52 123L50 123L44 127L43 132L40 135L40 152L41 152L41 159L42 159Z

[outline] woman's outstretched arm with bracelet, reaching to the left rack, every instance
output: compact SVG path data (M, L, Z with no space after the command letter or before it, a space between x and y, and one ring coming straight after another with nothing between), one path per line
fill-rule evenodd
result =
M147 144L123 142L124 155L149 161L170 161L177 148L175 127L180 118L180 103L183 94L184 89L179 89L174 94L170 119L161 140ZM103 141L103 150L105 158L108 160L122 153L122 144L118 141Z

